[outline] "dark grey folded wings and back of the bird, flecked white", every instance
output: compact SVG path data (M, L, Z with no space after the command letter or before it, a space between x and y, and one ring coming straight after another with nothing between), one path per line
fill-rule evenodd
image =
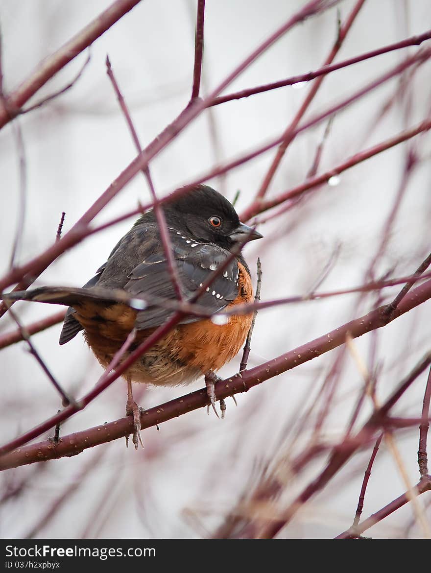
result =
M175 229L169 229L169 233L183 293L190 296L219 265L228 260L229 252L213 244L195 242ZM196 302L211 313L220 311L238 294L237 275L238 264L234 259ZM147 308L136 316L138 329L155 328L169 319L173 310L151 305L151 295L177 299L157 224L147 222L132 227L115 246L108 261L97 270L96 276L83 288L93 287L123 289L131 295L142 295L149 299ZM105 301L103 304L112 303ZM73 308L68 308L60 344L69 342L83 329L74 313ZM186 316L181 322L196 320L199 317Z

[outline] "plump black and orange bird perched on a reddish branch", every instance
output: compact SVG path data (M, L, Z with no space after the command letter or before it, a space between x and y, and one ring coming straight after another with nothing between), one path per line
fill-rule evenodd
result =
M11 300L67 305L60 344L83 331L85 342L103 368L108 367L131 331L135 339L122 360L174 315L175 305L162 303L178 301L178 288L183 300L193 300L191 297L195 296L194 302L205 309L207 316L183 315L123 374L128 388L126 415L134 417L136 449L138 441L142 445L142 409L133 398L132 382L179 386L204 375L215 410L215 373L238 353L252 323L252 312L232 313L232 307L252 303L254 296L241 247L247 241L262 238L256 229L240 221L228 199L207 185L174 193L161 207L177 288L153 208L141 215L117 242L107 261L83 288L42 286L9 293ZM220 266L224 266L222 272L203 288ZM124 302L120 295L124 295ZM220 319L220 313L226 309L230 309L229 314ZM217 319L213 313L218 313Z

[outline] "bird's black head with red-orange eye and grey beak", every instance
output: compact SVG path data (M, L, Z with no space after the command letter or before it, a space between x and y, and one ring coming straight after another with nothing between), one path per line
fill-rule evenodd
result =
M163 206L168 226L205 243L232 249L238 242L259 239L260 233L240 222L223 195L207 185L198 185Z

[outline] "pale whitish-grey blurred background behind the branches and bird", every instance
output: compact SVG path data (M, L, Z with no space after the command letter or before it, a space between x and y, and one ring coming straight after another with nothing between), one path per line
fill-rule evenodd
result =
M69 91L17 119L25 158L25 218L17 263L46 249L56 237L62 211L68 230L135 156L124 117L106 75L109 54L119 87L145 146L185 107L191 95L197 2L141 2L100 37L91 60ZM304 2L292 0L208 0L201 94L216 87L234 67ZM355 2L338 5L342 21ZM109 6L106 0L1 0L2 70L6 93L50 53ZM337 34L337 7L296 26L254 62L225 93L284 79L323 65ZM366 0L336 61L420 34L430 28L427 0ZM324 79L305 120L348 97L408 56L417 47L397 50L331 73ZM80 54L34 97L69 83L83 66ZM430 62L383 84L327 121L297 136L276 173L268 197L299 185L323 143L318 173L355 153L413 127L430 113ZM309 86L299 84L210 108L150 164L162 196L192 181L214 165L280 135L304 101ZM256 258L263 269L261 298L304 295L319 289L349 288L366 278L404 276L430 252L430 137L420 135L343 172L336 185L305 195L278 217L261 222L264 239L245 249L256 280ZM272 162L271 150L211 179L209 185L230 201L237 191L238 213L250 205ZM11 124L0 133L0 272L9 269L22 209L19 144ZM413 167L406 168L408 157ZM109 221L150 200L138 174L96 218ZM276 210L261 214L264 221ZM106 260L134 219L109 227L81 242L38 278L36 285L81 286ZM385 230L386 229L386 230ZM322 281L323 279L323 281ZM399 287L385 289L389 301ZM374 308L375 294L285 305L261 311L254 329L249 367L307 343ZM57 307L18 303L25 324L57 312ZM383 401L429 350L429 303L384 329L355 341L363 361L376 373ZM0 334L15 328L5 315ZM101 368L78 335L58 346L60 325L33 337L33 343L68 393L90 390ZM232 375L240 356L221 371ZM24 342L0 355L2 443L50 417L60 399ZM333 390L322 390L325 380ZM331 382L332 380L332 382ZM426 376L397 405L396 415L420 416ZM332 386L331 386L332 384ZM153 407L203 386L137 388L140 405ZM348 353L328 352L247 394L228 399L226 419L206 409L143 432L145 448L128 450L124 440L86 450L79 456L7 470L0 475L0 535L3 537L206 537L222 527L232 511L241 519L264 519L269 505L238 506L262 475L278 472L281 494L271 511L282 511L323 467L315 460L293 476L291 461L310 439L331 444L343 435L363 379ZM328 384L324 386L328 388ZM117 380L61 427L61 434L112 421L124 415L126 384ZM312 407L314 405L314 407ZM366 401L358 427L371 412ZM320 423L322 422L322 423ZM316 429L318 426L318 429ZM418 430L395 435L412 483L419 478ZM42 438L41 438L42 439ZM43 437L46 439L46 436ZM372 445L356 454L295 516L281 537L333 537L350 526ZM266 472L266 473L265 473ZM382 442L367 490L364 517L405 490L393 457ZM429 497L429 494L428 494ZM426 495L419 503L431 512ZM421 537L406 505L367 532L373 537Z

